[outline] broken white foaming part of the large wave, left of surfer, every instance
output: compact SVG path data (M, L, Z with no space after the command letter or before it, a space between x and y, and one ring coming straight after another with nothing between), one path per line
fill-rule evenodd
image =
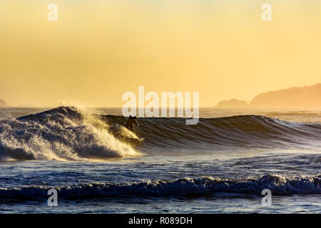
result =
M73 107L0 122L1 160L91 160L137 155L106 122Z

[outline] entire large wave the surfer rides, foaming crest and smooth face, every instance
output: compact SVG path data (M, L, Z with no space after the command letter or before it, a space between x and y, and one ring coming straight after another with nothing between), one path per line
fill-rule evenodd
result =
M320 123L294 123L261 115L200 118L138 118L132 133L127 118L94 115L73 107L0 121L1 160L93 160L175 150L319 148ZM134 147L136 149L134 149ZM170 149L170 150L167 150Z

